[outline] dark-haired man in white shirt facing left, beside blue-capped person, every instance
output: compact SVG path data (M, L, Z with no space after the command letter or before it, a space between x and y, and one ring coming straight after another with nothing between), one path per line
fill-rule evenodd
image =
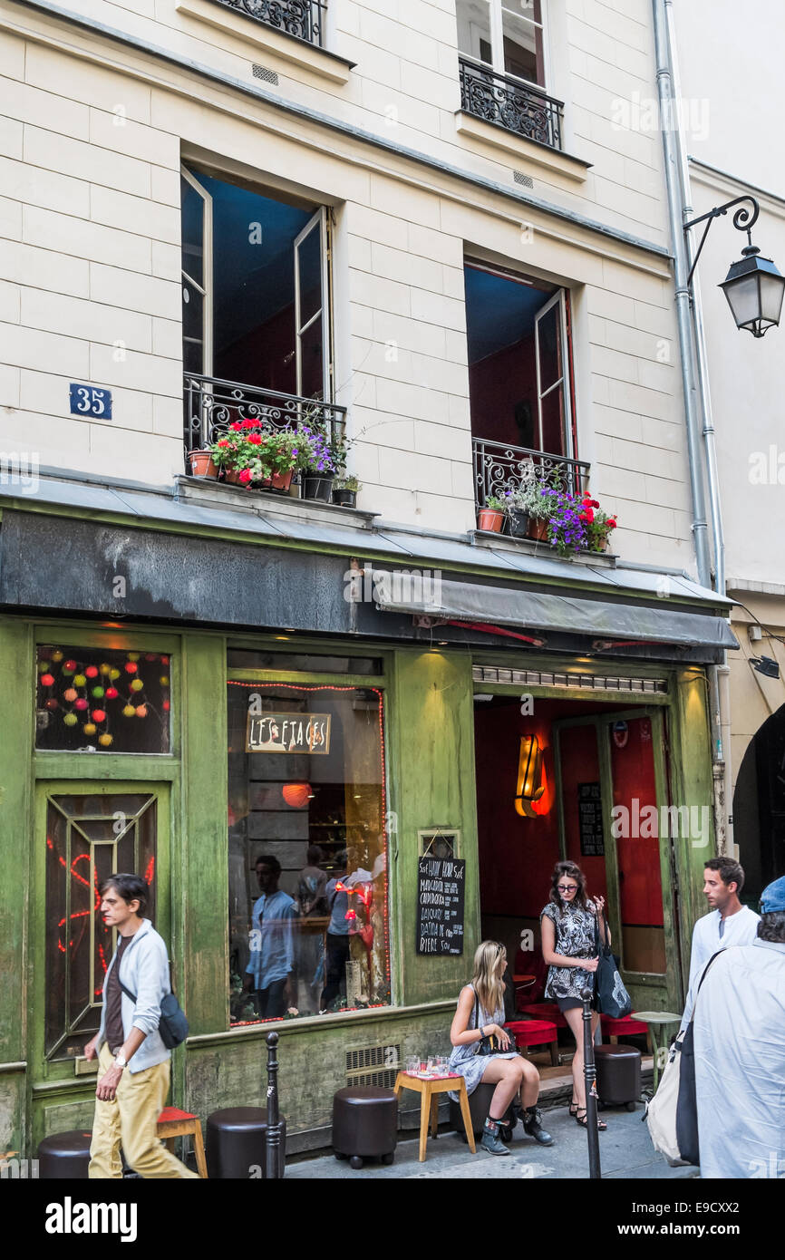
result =
M689 992L682 1016L682 1032L692 1018L696 993L709 958L731 945L751 945L757 935L760 916L738 900L743 886L745 872L733 858L711 858L706 863L703 893L709 912L698 920L692 934Z

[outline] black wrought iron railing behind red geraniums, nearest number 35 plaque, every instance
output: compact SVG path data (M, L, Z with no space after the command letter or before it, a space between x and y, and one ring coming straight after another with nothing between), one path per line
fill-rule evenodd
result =
M184 377L185 452L203 450L227 432L236 421L253 420L267 428L296 428L299 425L324 428L334 442L344 436L347 408L300 398L257 386L215 377Z

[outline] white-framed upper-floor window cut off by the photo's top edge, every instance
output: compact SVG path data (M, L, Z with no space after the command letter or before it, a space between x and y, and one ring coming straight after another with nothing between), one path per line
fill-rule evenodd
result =
M546 33L541 0L457 0L462 55L525 83L546 87Z

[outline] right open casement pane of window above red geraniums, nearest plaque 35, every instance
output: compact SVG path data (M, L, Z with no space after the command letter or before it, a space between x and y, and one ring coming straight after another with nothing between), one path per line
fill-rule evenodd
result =
M329 324L329 224L324 207L316 210L294 243L296 389L302 398L331 397Z

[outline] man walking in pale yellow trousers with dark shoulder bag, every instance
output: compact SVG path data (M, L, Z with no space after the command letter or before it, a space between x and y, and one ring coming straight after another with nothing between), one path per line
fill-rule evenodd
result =
M156 1129L169 1094L171 1051L158 1026L170 984L166 946L141 917L147 885L137 874L111 874L100 892L103 921L117 930L117 950L103 980L101 1027L84 1047L88 1060L98 1055L88 1176L122 1177L122 1145L140 1177L195 1177L166 1150Z

